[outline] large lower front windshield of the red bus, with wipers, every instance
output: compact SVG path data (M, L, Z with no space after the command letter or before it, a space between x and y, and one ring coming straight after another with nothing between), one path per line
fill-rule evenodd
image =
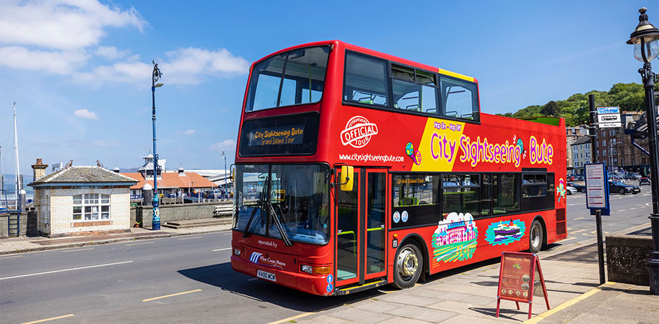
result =
M276 217L291 241L325 244L330 233L329 180L327 165L236 165L233 228L282 239ZM272 209L263 207L268 205Z

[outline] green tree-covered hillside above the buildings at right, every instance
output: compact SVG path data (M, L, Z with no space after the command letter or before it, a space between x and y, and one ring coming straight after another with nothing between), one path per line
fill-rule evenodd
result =
M659 82L654 84L659 94ZM565 125L577 126L588 123L588 95L595 95L596 107L619 106L621 111L645 111L645 90L638 83L616 83L609 91L588 91L573 94L565 100L549 101L545 105L530 105L517 112L506 112L506 117L554 116L565 118Z

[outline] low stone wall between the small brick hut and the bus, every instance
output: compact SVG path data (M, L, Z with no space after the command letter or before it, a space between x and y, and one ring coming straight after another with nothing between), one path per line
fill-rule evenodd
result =
M168 221L184 221L187 219L209 219L214 216L215 206L221 205L219 202L198 202L191 204L178 205L161 205L160 206L160 223L165 224ZM151 228L153 220L153 207L151 206L133 206L131 207L131 221L139 221L142 227Z

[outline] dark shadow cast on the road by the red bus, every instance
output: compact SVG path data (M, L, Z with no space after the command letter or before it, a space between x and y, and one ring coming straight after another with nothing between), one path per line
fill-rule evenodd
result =
M366 300L383 295L376 289L365 290L350 295L324 297L256 279L235 272L230 263L219 263L204 267L179 270L184 277L215 286L228 293L239 295L258 302L268 302L296 311L322 311L343 304Z

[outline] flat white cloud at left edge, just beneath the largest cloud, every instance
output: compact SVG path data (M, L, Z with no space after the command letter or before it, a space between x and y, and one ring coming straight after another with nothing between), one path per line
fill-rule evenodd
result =
M45 52L28 50L25 47L0 47L0 65L24 70L42 70L50 73L68 74L82 66L89 54L84 50Z

